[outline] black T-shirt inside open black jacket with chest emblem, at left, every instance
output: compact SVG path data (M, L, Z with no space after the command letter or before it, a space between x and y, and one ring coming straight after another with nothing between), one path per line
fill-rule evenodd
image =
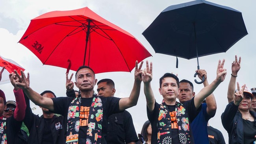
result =
M42 144L52 144L53 138L52 138L52 131L51 131L51 120L52 118L44 118L45 120L45 126L43 131L43 139Z

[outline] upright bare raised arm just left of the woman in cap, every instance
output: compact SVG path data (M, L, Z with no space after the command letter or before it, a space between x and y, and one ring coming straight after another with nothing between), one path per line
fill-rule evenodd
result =
M237 55L235 56L236 59L235 61L232 63L231 66L231 70L232 70L232 74L231 74L231 78L228 84L228 103L234 101L234 94L235 94L235 90L236 90L236 77L237 77L237 73L240 70L241 66L241 57L239 57L239 61L237 61Z

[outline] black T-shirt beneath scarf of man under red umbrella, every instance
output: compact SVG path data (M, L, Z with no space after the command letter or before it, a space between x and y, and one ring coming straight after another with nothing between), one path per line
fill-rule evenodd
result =
M86 98L85 98L86 99ZM59 97L59 98L52 98L54 103L54 113L61 114L64 116L65 123L64 125L67 125L67 114L69 105L74 100L74 98L71 97ZM102 120L102 138L101 138L101 144L107 144L106 142L106 136L107 136L107 118L109 115L113 113L119 113L119 100L120 98L115 97L103 97L101 98L102 105L103 105L103 120ZM91 100L90 100L91 102ZM66 129L66 128L65 128ZM79 138L83 138L83 140L86 140L86 136L80 136ZM80 143L80 142L79 142Z

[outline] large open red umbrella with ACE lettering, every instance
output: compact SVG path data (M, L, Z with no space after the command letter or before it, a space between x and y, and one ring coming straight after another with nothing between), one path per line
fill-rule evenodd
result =
M87 65L95 73L131 72L136 60L151 56L133 35L88 7L52 11L32 19L19 42L44 65L75 71Z

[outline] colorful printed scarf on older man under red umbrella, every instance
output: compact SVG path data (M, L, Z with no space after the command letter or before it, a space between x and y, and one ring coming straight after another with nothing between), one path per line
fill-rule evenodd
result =
M78 144L80 126L81 95L74 98L70 103L67 116L67 139L66 144ZM103 107L100 97L93 94L93 101L89 110L86 144L100 144L102 133Z

